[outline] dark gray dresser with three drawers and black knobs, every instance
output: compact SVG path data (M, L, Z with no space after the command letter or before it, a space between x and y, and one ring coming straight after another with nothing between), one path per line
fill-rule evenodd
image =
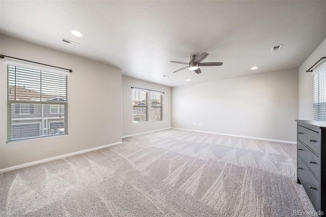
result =
M316 211L326 211L326 121L297 122L297 183Z

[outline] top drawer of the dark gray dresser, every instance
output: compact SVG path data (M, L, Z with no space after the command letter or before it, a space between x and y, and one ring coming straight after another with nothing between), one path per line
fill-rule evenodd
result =
M303 126L297 125L297 139L305 143L309 148L320 155L320 135Z

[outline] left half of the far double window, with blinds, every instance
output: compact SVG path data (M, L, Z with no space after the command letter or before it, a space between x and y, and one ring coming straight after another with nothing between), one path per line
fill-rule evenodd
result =
M147 92L132 90L133 122L147 121Z

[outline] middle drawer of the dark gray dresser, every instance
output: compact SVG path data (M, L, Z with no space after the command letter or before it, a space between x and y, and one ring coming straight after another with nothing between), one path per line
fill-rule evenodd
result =
M297 154L305 161L306 165L320 180L320 158L312 153L304 144L297 141Z

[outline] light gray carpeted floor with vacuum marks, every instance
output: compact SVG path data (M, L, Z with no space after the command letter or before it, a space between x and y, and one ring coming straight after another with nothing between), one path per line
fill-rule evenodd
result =
M296 145L168 129L0 174L1 216L293 216Z

